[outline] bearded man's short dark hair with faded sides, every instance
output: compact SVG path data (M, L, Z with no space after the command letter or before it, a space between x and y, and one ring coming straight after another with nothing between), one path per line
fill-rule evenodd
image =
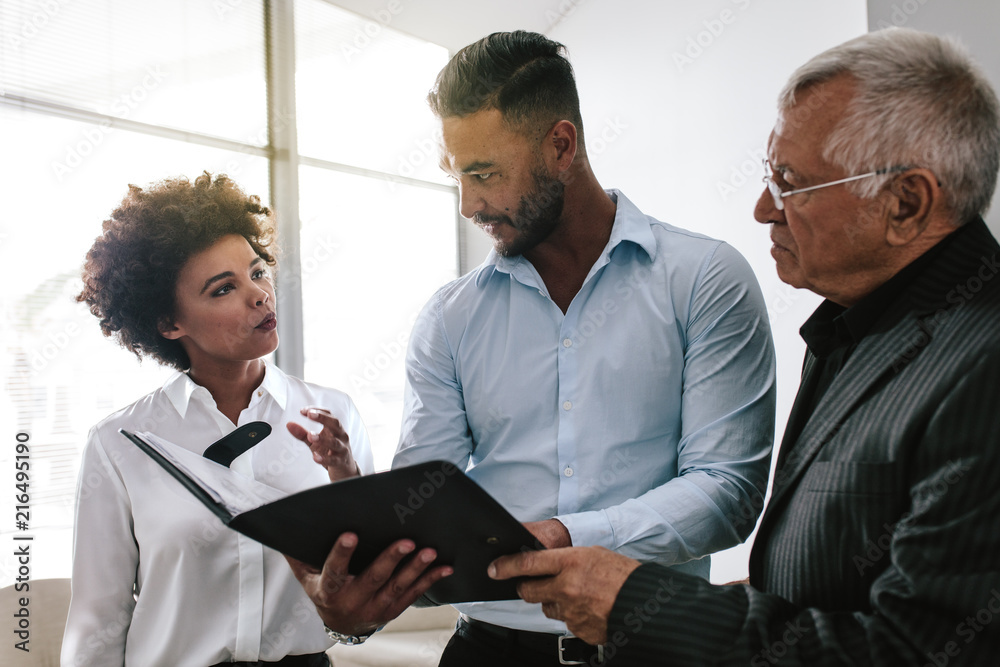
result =
M511 127L542 134L569 120L583 148L580 98L566 47L545 35L495 32L469 44L445 65L427 95L438 118L497 109Z

